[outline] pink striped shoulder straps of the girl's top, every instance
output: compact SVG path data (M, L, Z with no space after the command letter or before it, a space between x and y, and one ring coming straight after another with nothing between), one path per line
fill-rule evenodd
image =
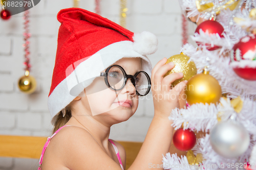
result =
M71 125L66 125L66 126L71 126ZM55 136L55 135L60 131L60 129L62 129L63 127L66 127L66 126L60 127L51 137L48 137L48 138L47 138L47 141L46 141L46 143L45 143L45 145L44 145L44 148L42 149L42 153L41 153L41 156L40 156L40 159L39 159L39 167L38 167L38 170L41 169L40 166L41 166L41 164L42 164L42 158L44 157L46 148L48 147L51 138L53 138L53 136ZM120 166L121 166L121 168L122 168L122 170L123 170L123 164L122 164L122 161L121 161L121 158L120 158L118 149L117 149L115 143L114 143L111 139L109 139L109 141L112 143L112 145L113 145L113 147L114 147L114 149L115 149L115 152L116 152L117 158L118 158L118 160L119 160Z

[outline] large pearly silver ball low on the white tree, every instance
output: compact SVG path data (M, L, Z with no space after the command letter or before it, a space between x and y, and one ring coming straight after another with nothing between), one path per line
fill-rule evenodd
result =
M243 125L228 121L215 125L210 131L212 149L226 158L242 155L249 147L250 136Z

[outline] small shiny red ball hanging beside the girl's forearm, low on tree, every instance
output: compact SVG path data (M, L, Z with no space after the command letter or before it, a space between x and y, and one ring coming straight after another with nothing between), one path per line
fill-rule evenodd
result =
M196 134L190 129L178 129L173 136L175 147L180 151L188 151L192 149L197 141Z

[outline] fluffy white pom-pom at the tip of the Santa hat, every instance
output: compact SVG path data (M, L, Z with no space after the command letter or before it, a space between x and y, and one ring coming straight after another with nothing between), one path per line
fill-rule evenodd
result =
M134 33L133 40L134 50L141 55L153 54L157 51L158 40L151 32Z

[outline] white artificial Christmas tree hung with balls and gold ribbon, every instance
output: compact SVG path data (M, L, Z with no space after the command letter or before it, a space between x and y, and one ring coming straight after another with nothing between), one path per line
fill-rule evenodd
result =
M208 66L209 75L218 80L225 97L222 97L218 104L196 103L188 108L176 108L170 113L169 119L173 120L172 126L175 130L183 125L184 130L193 129L196 132L207 133L197 139L195 147L191 149L195 157L198 154L202 156L201 162L193 164L186 156L178 157L177 154L167 153L163 155L162 160L164 169L256 169L256 79L241 78L231 67L240 65L241 68L256 69L255 60L243 61L241 50L239 48L233 50L233 46L243 37L248 35L253 37L256 33L256 2L254 0L179 0L179 2L186 17L198 16L197 20L200 19L199 17L206 20L216 19L224 28L223 37L219 34L209 35L200 30L199 33L191 36L195 42L200 42L199 47L187 43L181 47L181 52L195 62L198 74ZM209 51L206 44L220 48ZM256 51L251 53L255 55ZM231 62L233 65L230 64ZM216 149L212 142L213 137L223 138L213 134L212 130L214 128L216 130L216 126L220 123L226 126L230 122L241 125L239 130L241 132L244 130L244 134L249 135L249 144L242 154L237 153L238 156L227 156L228 153L225 151L232 153L232 149L236 150L232 145L229 148L217 145ZM236 132L235 129L233 130ZM242 149L242 144L237 150Z

